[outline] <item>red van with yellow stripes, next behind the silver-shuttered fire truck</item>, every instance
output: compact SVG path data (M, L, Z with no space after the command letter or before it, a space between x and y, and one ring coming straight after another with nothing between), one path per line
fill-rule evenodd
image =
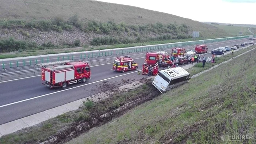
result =
M116 60L114 60L114 64L113 64L113 70L117 72L137 70L138 67L139 65L136 64L136 62L133 61L133 59L128 56L117 57Z

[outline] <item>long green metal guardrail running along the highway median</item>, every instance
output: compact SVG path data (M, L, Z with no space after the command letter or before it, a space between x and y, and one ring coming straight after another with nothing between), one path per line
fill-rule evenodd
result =
M256 36L256 35L254 35ZM217 39L206 39L206 40L198 40L198 41L189 41L189 42L176 42L176 43L166 43L166 44L159 44L159 45L149 45L149 46L135 46L135 47L129 47L129 48L117 48L117 49L106 49L106 50L94 50L94 51L86 51L86 52L74 52L74 53L68 53L68 54L80 54L80 56L69 56L67 53L65 54L49 54L45 55L48 57L45 57L44 55L42 56L32 56L32 57L22 57L22 58L7 58L7 59L2 59L2 69L5 69L5 66L9 65L10 68L13 67L13 65L16 63L16 67L22 67L28 66L28 65L34 65L32 63L38 64L39 61L41 63L44 62L50 62L50 60L54 61L60 61L60 60L74 60L75 57L76 59L86 59L86 58L93 58L96 59L99 57L108 57L108 56L116 56L117 54L129 54L129 53L139 53L139 52L146 52L148 50L162 50L162 49L168 49L168 48L174 48L174 47L184 47L184 46L192 46L192 45L197 45L197 44L204 44L204 43L214 43L214 42L222 42L222 41L229 41L229 40L237 40L237 39L244 39L248 38L248 36L241 36L241 37L229 37L229 38L217 38ZM95 52L97 51L97 52ZM109 52L106 52L109 51ZM110 52L111 51L111 52ZM114 52L116 51L116 52ZM58 55L58 56L57 56ZM60 55L68 55L68 56L62 56ZM40 58L41 60L37 59ZM46 59L42 58L45 57ZM49 58L49 57L55 57L55 58ZM25 61L24 59L27 59ZM35 59L35 60L31 60ZM9 62L6 62L8 60ZM16 62L14 62L16 61Z

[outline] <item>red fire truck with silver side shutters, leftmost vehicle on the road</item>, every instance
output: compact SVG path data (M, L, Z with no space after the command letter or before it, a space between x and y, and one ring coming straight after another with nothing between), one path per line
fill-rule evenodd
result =
M59 64L59 65L55 65ZM69 84L85 83L91 79L91 68L87 62L48 62L42 65L42 84L54 88L66 88ZM46 67L46 65L55 65Z

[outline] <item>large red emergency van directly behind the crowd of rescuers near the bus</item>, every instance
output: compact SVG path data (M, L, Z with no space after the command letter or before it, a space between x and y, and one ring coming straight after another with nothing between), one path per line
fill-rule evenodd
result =
M162 58L162 65L164 65L165 67L171 67L173 65L173 62L169 60L169 58L167 58L164 54L158 53L146 53L145 62L148 65L154 66L160 60L160 58Z

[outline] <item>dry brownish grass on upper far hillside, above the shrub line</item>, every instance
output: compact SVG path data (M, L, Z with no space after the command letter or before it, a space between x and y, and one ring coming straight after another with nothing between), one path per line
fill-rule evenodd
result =
M11 11L10 11L11 10ZM217 27L179 16L146 10L128 5L105 3L91 0L2 0L1 19L52 19L56 16L68 19L74 14L84 20L124 22L126 24L186 23L202 37L212 34L218 37L229 35Z

